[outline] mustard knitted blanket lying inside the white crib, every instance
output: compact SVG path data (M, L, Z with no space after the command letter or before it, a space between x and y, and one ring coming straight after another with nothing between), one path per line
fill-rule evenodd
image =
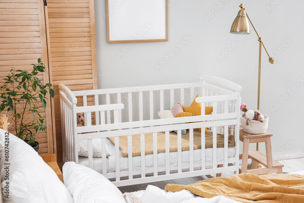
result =
M205 134L205 148L212 148L213 145L213 132L207 128L207 134ZM111 142L115 144L114 137L109 137ZM176 152L177 145L177 133L169 133L169 148L170 152ZM228 147L234 147L234 136L228 136ZM224 135L217 134L217 146L224 147ZM119 136L119 148L121 149L122 156L128 157L128 136ZM189 130L185 135L181 135L181 150L189 150ZM201 131L193 130L193 149L201 149ZM157 153L165 152L165 134L157 132ZM145 133L145 154L153 154L153 133ZM140 156L140 134L132 135L132 156Z

